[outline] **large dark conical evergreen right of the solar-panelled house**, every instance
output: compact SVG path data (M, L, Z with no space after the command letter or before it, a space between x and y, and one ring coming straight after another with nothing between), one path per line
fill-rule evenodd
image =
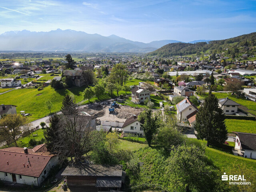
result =
M203 106L199 108L196 114L195 130L198 132L198 139L206 139L207 146L210 144L222 144L228 138L225 116L218 106L218 99L209 92Z

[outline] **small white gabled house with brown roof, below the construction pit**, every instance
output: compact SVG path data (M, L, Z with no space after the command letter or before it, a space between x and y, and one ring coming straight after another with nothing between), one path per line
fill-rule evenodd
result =
M129 135L139 136L139 137L144 136L143 129L140 127L140 122L137 120L138 115L139 113L134 114L130 118L126 119L126 121L122 126L122 129L123 129L122 136L124 137L127 137Z

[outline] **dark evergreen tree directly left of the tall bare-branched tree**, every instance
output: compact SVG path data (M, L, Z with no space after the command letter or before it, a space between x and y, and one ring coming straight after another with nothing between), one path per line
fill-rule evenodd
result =
M60 117L57 114L54 114L50 118L50 126L46 126L44 130L44 138L46 143L46 148L49 152L54 152L57 150L54 145L58 140L58 128L59 128Z

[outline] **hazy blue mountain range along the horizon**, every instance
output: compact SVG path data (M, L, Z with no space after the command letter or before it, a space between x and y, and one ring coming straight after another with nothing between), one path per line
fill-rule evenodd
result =
M210 41L196 40L195 42ZM31 32L9 31L0 35L2 51L81 51L81 52L151 52L166 44L181 42L160 40L143 43L116 35L102 36L75 30Z

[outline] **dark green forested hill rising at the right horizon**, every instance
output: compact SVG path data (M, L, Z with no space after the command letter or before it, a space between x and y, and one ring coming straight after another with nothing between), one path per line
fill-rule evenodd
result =
M208 43L198 42L191 43L170 43L153 52L148 53L148 56L183 56L188 54L203 54L206 51L210 53L225 52L227 55L235 58L240 54L256 54L256 32L229 38L225 40L214 40Z

